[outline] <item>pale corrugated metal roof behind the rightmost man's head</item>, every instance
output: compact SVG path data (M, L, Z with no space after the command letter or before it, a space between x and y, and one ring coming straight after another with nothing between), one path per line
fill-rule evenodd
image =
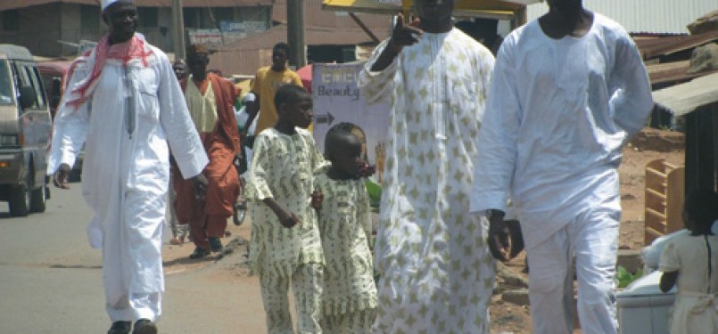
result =
M686 26L718 9L718 0L583 0L583 6L599 12L629 32L688 33ZM547 4L529 4L528 20L549 11Z

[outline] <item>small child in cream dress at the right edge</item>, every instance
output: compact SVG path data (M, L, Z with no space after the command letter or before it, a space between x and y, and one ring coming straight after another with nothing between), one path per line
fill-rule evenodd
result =
M718 332L718 237L711 226L718 219L718 194L692 191L683 207L689 229L669 241L658 265L661 290L677 285L671 333Z

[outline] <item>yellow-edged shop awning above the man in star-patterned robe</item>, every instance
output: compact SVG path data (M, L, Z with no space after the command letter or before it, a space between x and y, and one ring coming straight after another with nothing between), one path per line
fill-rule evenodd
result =
M486 16L499 19L510 19L514 13L526 4L540 3L543 0L457 0L454 13L458 16ZM402 3L412 4L405 0L324 0L322 8L340 12L373 12L395 14L402 9Z

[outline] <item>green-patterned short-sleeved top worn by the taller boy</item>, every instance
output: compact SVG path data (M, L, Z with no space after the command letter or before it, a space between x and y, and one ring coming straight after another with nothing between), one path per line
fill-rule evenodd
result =
M290 275L297 265L324 264L317 216L309 207L314 170L324 163L308 131L258 135L246 197L252 216L250 263L254 271ZM285 228L261 200L273 198L300 219Z

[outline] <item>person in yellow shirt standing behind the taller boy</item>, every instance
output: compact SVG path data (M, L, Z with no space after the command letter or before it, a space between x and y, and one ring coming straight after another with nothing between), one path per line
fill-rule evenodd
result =
M277 43L272 48L272 66L257 69L252 82L252 93L260 101L260 118L257 120L255 134L276 124L277 114L274 95L280 86L294 84L301 86L301 78L286 65L289 57L289 45Z

